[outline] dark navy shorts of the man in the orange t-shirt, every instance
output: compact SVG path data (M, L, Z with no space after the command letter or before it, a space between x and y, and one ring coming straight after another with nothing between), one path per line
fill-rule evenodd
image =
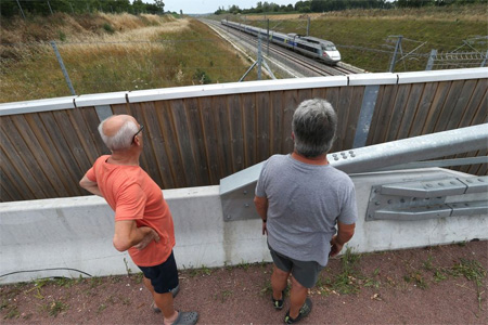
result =
M157 294L167 294L175 289L178 284L178 269L175 261L175 256L171 255L166 261L156 266L139 266L144 277L151 280L154 291Z

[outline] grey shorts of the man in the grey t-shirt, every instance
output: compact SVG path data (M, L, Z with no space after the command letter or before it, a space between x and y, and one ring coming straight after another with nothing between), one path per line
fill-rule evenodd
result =
M288 258L271 248L268 244L269 251L273 259L274 265L283 272L292 273L293 277L306 288L316 285L320 271L323 266L316 261L298 261Z

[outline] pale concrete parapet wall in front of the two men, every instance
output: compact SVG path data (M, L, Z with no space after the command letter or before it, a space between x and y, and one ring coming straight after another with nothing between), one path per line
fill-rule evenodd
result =
M373 186L463 173L429 168L352 174L358 198L355 252L395 250L488 239L488 211L427 220L365 221ZM219 186L163 191L175 220L178 266L222 266L270 261L259 219L224 221ZM447 198L447 200L455 197ZM463 199L487 199L486 193ZM0 204L0 283L51 276L103 276L139 272L112 246L113 211L103 198L39 199Z

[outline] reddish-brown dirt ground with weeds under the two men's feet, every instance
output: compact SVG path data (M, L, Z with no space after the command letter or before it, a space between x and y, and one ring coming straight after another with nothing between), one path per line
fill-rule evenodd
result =
M176 257L178 261L178 256ZM180 272L177 309L200 324L280 324L269 263ZM488 324L488 242L346 253L310 291L304 324ZM162 324L140 274L4 285L2 324Z

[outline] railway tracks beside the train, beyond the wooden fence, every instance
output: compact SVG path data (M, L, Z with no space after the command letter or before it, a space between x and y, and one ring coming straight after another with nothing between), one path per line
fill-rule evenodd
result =
M220 25L220 22L217 21L202 20L202 22L209 25L220 35L227 36L228 40L233 42L234 46L243 46L248 51L256 53L258 47L256 37L233 28L223 27ZM294 77L344 76L364 73L364 70L360 68L344 65L341 62L338 65L329 66L322 62L318 62L277 44L268 44L266 41L261 41L261 52L265 60L278 61L280 63L279 65L284 65L286 69L288 69L288 73L291 70L290 74Z

